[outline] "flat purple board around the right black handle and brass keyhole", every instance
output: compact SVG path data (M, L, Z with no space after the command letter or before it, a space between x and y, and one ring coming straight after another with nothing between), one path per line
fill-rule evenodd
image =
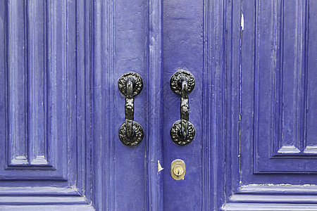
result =
M201 134L203 79L204 1L163 1L163 194L164 210L201 210ZM178 146L170 139L170 127L180 120L180 96L170 89L170 77L184 68L196 85L189 94L189 121L196 127L194 140ZM170 176L170 164L184 160L185 179Z

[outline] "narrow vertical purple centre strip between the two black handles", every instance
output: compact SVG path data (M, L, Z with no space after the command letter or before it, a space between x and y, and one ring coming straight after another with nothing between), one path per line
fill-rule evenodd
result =
M163 210L162 1L147 1L147 210ZM168 168L166 168L168 170Z

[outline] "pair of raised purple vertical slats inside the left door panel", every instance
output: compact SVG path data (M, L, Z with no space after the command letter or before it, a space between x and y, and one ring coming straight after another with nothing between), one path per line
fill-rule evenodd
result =
M52 155L48 150L46 134L46 4L31 1L27 5L30 13L25 19L29 23L27 29L21 21L25 17L24 9L24 4L8 2L9 33L23 36L8 37L8 118L11 120L8 165L51 166L48 158ZM21 70L24 70L24 74L21 74ZM29 120L30 125L27 123Z

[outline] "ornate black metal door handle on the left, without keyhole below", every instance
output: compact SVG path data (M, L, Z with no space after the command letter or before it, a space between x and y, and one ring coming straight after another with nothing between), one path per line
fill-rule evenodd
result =
M135 72L126 72L118 81L119 90L125 96L125 122L119 130L120 141L126 146L137 146L143 139L142 126L134 121L134 96L143 88L142 77Z

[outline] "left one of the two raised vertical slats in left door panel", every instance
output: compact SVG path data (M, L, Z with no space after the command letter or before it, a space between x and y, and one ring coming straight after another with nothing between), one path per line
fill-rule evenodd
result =
M25 1L8 1L8 165L28 165Z

